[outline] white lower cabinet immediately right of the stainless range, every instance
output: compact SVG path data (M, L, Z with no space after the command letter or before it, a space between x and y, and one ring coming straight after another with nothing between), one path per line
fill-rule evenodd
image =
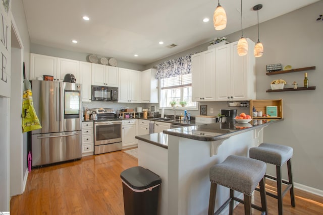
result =
M122 120L122 149L136 147L136 119Z

